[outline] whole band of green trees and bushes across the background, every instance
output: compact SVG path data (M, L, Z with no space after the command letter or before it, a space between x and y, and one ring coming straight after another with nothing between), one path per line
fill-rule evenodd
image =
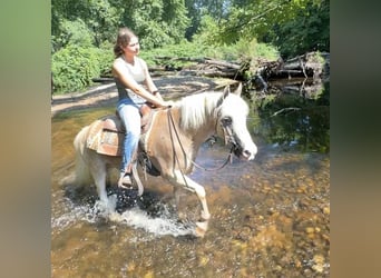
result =
M148 64L178 68L188 62L155 57L254 61L329 51L329 0L52 0L55 87L77 90L109 72L121 26L139 37Z

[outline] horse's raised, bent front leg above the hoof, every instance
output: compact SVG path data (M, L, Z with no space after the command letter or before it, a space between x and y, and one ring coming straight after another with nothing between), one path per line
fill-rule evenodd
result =
M202 219L208 220L211 218L209 210L206 203L206 192L203 186L198 185L187 176L183 175L180 171L175 171L172 180L175 186L182 186L185 189L195 192L202 205Z

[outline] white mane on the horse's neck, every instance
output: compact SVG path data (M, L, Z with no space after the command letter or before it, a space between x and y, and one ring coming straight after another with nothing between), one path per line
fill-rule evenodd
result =
M212 116L222 92L203 92L183 98L177 105L180 110L180 127L198 129Z

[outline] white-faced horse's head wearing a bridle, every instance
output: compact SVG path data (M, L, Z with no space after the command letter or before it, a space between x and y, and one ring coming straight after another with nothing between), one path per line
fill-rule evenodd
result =
M215 111L225 142L233 145L234 153L238 158L252 160L257 152L257 148L246 127L248 106L241 98L241 83L234 92L231 92L227 87L218 99Z

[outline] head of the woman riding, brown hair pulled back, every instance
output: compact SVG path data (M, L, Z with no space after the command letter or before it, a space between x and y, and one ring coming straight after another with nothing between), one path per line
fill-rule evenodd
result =
M114 53L116 57L124 54L125 51L130 51L135 54L139 52L138 37L127 27L118 30L117 41L114 46Z

